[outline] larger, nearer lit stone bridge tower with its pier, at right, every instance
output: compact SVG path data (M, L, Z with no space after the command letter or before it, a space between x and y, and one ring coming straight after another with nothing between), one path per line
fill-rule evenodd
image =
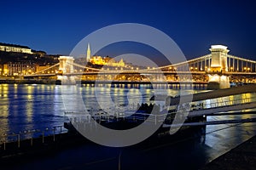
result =
M212 45L212 62L209 71L208 89L230 88L230 79L224 76L228 71L228 53L230 50L223 45Z

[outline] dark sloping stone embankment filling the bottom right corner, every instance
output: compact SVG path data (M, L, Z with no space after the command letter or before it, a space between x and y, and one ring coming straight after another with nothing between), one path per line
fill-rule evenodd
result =
M256 167L256 136L208 163L201 170L240 170Z

